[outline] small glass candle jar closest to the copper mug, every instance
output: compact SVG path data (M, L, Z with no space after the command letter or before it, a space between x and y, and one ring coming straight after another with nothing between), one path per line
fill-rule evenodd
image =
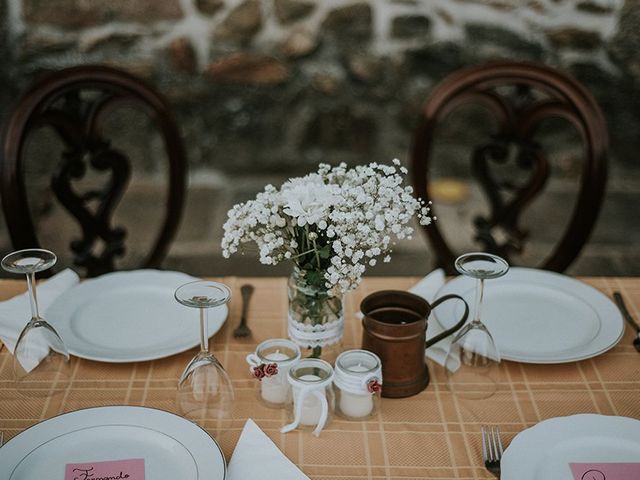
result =
M333 377L336 413L350 420L361 420L378 410L382 390L382 363L367 350L349 350L336 359Z

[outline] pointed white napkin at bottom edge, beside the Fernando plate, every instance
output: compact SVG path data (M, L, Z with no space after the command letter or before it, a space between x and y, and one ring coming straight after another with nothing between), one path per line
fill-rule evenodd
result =
M255 422L247 420L229 462L227 480L309 480Z

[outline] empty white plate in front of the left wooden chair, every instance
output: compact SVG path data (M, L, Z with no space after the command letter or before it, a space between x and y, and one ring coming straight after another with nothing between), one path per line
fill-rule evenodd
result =
M198 345L197 309L174 298L175 289L198 280L160 270L114 272L60 295L45 312L69 353L101 362L143 362ZM227 318L226 305L209 309L209 337Z

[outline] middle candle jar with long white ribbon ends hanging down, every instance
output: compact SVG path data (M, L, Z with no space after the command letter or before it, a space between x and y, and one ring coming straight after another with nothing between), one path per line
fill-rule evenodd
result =
M289 369L288 380L293 393L293 421L281 431L313 428L313 434L320 435L335 407L333 368L324 360L304 358Z

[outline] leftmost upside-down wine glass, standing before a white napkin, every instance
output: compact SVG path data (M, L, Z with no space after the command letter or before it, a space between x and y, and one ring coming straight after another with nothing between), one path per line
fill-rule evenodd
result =
M17 390L30 397L53 396L69 385L69 352L58 332L40 316L36 294L35 274L51 268L56 261L53 252L33 248L10 253L1 262L7 272L27 277L31 320L15 345L13 379Z

